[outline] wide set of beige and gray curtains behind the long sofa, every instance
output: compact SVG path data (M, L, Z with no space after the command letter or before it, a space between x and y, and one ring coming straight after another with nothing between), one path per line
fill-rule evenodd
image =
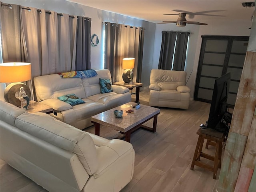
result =
M90 18L80 17L80 26L77 16L0 4L3 62L30 62L32 80L90 69ZM32 80L26 84L34 92Z

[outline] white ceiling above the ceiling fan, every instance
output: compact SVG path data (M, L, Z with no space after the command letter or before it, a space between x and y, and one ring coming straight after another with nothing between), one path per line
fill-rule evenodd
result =
M211 20L251 20L255 7L243 7L242 2L254 0L69 0L89 7L106 10L113 13L159 23L162 20L178 19L178 15L163 14L185 12L203 12L217 16L195 15L186 16L188 21L210 22ZM213 11L213 12L212 12Z

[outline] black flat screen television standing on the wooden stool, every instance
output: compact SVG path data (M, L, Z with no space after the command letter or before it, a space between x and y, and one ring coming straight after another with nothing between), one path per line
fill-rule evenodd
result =
M230 73L215 80L207 128L214 128L227 111L229 87Z

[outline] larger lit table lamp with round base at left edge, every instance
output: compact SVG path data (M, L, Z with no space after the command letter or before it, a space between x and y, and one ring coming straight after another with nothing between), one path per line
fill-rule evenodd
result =
M0 64L0 83L10 83L4 90L6 102L27 109L31 91L26 84L21 82L28 80L31 80L30 63L11 62ZM23 104L26 104L25 106L22 106L22 101Z

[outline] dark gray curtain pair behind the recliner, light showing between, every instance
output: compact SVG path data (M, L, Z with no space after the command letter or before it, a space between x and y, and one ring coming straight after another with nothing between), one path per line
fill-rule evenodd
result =
M189 32L162 32L158 69L184 70Z

